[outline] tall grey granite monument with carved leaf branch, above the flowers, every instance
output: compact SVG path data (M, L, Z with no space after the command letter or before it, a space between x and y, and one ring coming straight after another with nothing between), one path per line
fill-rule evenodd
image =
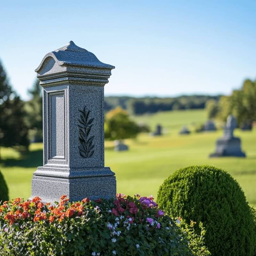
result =
M70 41L36 68L43 87L44 166L32 193L44 202L116 197L115 173L104 167L104 85L114 66Z

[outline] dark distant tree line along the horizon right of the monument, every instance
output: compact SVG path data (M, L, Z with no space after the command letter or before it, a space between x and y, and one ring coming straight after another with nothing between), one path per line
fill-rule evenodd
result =
M145 113L156 113L158 111L168 111L177 109L199 109L205 108L208 100L218 101L218 96L191 95L168 98L157 97L105 97L105 111L109 111L117 106L126 109L129 114L142 115Z

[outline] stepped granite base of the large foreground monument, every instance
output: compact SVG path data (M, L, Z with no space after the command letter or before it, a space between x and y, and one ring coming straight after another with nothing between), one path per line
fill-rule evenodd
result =
M70 202L85 197L89 197L90 200L116 198L114 175L109 167L87 169L38 167L33 174L29 199L39 196L44 203L54 203L59 202L62 195L67 195Z

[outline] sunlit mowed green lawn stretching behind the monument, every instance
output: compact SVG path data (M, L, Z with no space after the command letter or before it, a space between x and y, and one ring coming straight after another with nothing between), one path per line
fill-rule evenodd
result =
M252 132L235 131L242 140L246 158L209 158L222 130L178 134L183 125L193 130L196 124L205 122L204 110L161 112L134 119L147 123L152 129L161 124L164 135L140 134L136 140L125 140L130 150L124 152L115 152L113 142L105 142L105 166L110 166L116 173L118 193L152 194L156 197L159 186L175 170L192 164L210 164L227 170L240 183L247 200L256 205L256 129ZM0 169L11 198L30 196L32 173L37 166L42 166L42 147L42 143L31 144L31 152L23 158L12 148L1 148Z

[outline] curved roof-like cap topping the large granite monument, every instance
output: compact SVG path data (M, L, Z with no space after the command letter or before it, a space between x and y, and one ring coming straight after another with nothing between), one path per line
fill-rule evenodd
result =
M89 52L86 49L77 46L73 41L70 41L67 45L47 53L38 68L36 68L35 72L38 72L42 68L44 61L49 56L52 57L59 66L81 66L107 69L115 68L112 65L101 62L92 52Z

